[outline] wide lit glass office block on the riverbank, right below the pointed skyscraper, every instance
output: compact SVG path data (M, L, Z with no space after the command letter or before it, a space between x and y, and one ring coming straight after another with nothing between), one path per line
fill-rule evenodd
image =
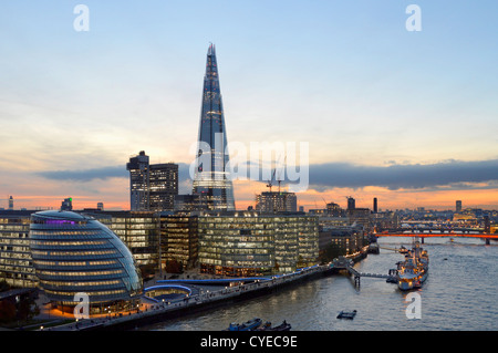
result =
M317 263L318 219L239 211L203 216L199 263L205 273L266 276Z

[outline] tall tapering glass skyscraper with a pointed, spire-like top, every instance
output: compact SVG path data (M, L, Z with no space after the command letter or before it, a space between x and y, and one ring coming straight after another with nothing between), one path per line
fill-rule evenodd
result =
M193 194L207 209L235 210L215 45L207 53Z

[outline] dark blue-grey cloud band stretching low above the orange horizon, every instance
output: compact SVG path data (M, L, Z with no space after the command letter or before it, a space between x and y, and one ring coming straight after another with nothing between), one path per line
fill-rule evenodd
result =
M179 188L189 193L191 187L189 164L178 163ZM362 166L351 163L325 163L309 166L311 189L323 191L333 188L383 187L400 189L466 189L498 187L498 159L461 162L448 160L436 164L404 164L390 166ZM40 172L39 176L53 180L91 181L94 179L128 178L125 166L110 166L82 170ZM267 180L260 180L267 183ZM288 181L288 180L286 180ZM286 183L284 181L284 183ZM486 185L483 186L483 183Z

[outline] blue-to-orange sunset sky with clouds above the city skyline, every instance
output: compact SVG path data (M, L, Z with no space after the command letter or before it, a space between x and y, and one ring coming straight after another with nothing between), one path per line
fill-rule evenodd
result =
M76 4L90 31L77 32ZM406 8L422 10L409 32ZM129 208L126 162L180 165L209 43L229 143L304 142L298 204L498 209L496 0L3 1L0 207ZM235 181L236 206L266 180Z

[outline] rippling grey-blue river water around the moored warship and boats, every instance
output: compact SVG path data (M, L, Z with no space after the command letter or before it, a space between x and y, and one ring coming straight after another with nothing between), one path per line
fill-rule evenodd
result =
M386 274L403 256L383 248L409 248L411 238L381 238L381 253L355 264L360 272ZM407 298L385 279L362 278L360 289L346 276L320 278L181 319L142 328L146 331L220 331L230 322L261 318L292 324L292 331L466 330L498 328L498 243L479 239L425 239L429 276L422 289ZM413 307L417 309L413 310ZM354 320L339 320L340 311L356 310ZM419 313L413 319L412 313ZM409 319L412 318L412 319Z

